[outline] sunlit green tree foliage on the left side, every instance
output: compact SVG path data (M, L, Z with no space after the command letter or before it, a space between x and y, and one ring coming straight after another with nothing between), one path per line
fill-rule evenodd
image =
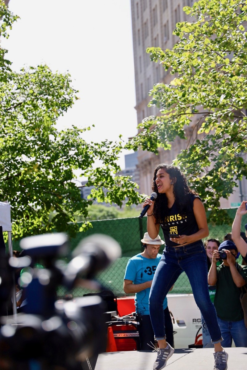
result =
M17 18L0 0L1 38ZM77 99L70 75L46 65L14 72L5 54L0 48L0 201L11 204L13 237L53 230L74 236L74 215L86 218L93 199L119 206L126 197L128 204L141 202L137 185L116 176L121 140L89 144L83 132L90 128L57 130L57 119ZM77 169L96 186L90 200L81 199L73 183ZM85 222L83 228L89 226Z

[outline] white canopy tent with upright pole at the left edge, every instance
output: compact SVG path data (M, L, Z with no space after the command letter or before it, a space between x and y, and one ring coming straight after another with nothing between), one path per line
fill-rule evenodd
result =
M12 248L12 225L11 225L11 217L10 217L10 204L5 202L0 202L0 225L3 228L3 231L7 231L8 233L8 246L9 246L9 254L13 256L13 248ZM13 313L17 313L16 308L16 292L15 289L13 290Z

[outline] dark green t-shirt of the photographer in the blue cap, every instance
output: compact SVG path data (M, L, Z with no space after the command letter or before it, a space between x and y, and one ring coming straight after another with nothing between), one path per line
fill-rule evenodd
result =
M247 283L247 266L237 263L237 269ZM238 288L233 281L229 266L222 265L216 268L217 283L214 297L214 306L217 316L221 320L240 321L244 317L240 302L241 288Z

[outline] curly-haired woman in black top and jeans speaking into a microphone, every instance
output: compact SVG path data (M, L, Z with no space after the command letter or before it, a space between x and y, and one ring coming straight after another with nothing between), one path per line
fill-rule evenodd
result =
M201 240L208 236L203 203L189 188L180 169L172 165L163 163L155 168L152 190L157 193L157 198L147 198L143 205L149 205L147 232L155 239L161 226L166 243L149 296L150 317L159 346L153 369L163 369L174 352L166 342L162 302L184 271L214 344L214 370L226 370L228 354L220 343L222 337L216 310L208 293L207 256Z

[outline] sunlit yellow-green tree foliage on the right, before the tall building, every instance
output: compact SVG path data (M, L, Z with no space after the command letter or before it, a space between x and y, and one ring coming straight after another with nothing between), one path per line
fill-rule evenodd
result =
M161 115L144 119L127 147L157 153L158 147L170 149L176 137L188 139L174 163L212 210L211 219L220 222L227 217L220 197L228 198L247 175L247 1L200 0L183 10L192 18L177 23L177 44L147 49L173 75L150 91L149 106Z

